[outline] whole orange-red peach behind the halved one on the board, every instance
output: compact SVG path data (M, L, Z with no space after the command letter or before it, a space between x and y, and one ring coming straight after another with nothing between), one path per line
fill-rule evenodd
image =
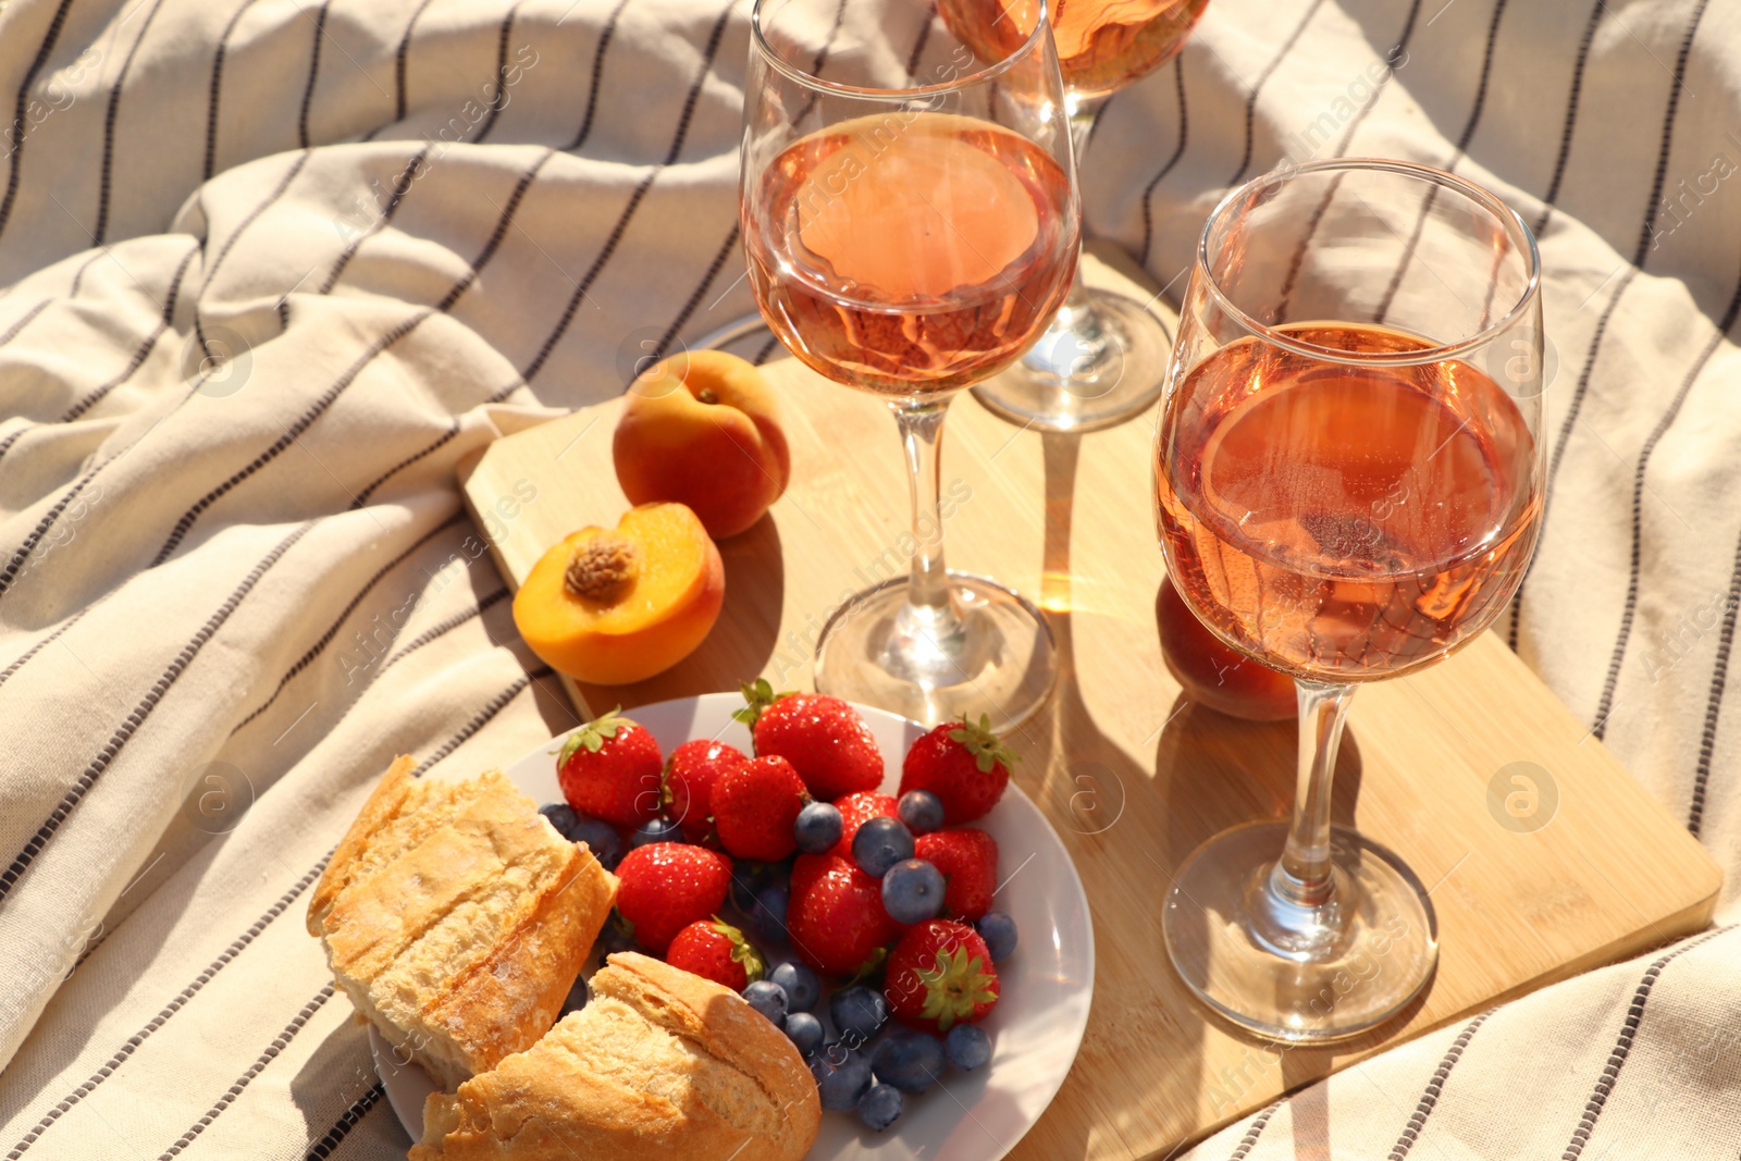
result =
M714 350L674 355L634 381L611 456L629 503L688 505L714 540L756 524L792 473L768 383Z

